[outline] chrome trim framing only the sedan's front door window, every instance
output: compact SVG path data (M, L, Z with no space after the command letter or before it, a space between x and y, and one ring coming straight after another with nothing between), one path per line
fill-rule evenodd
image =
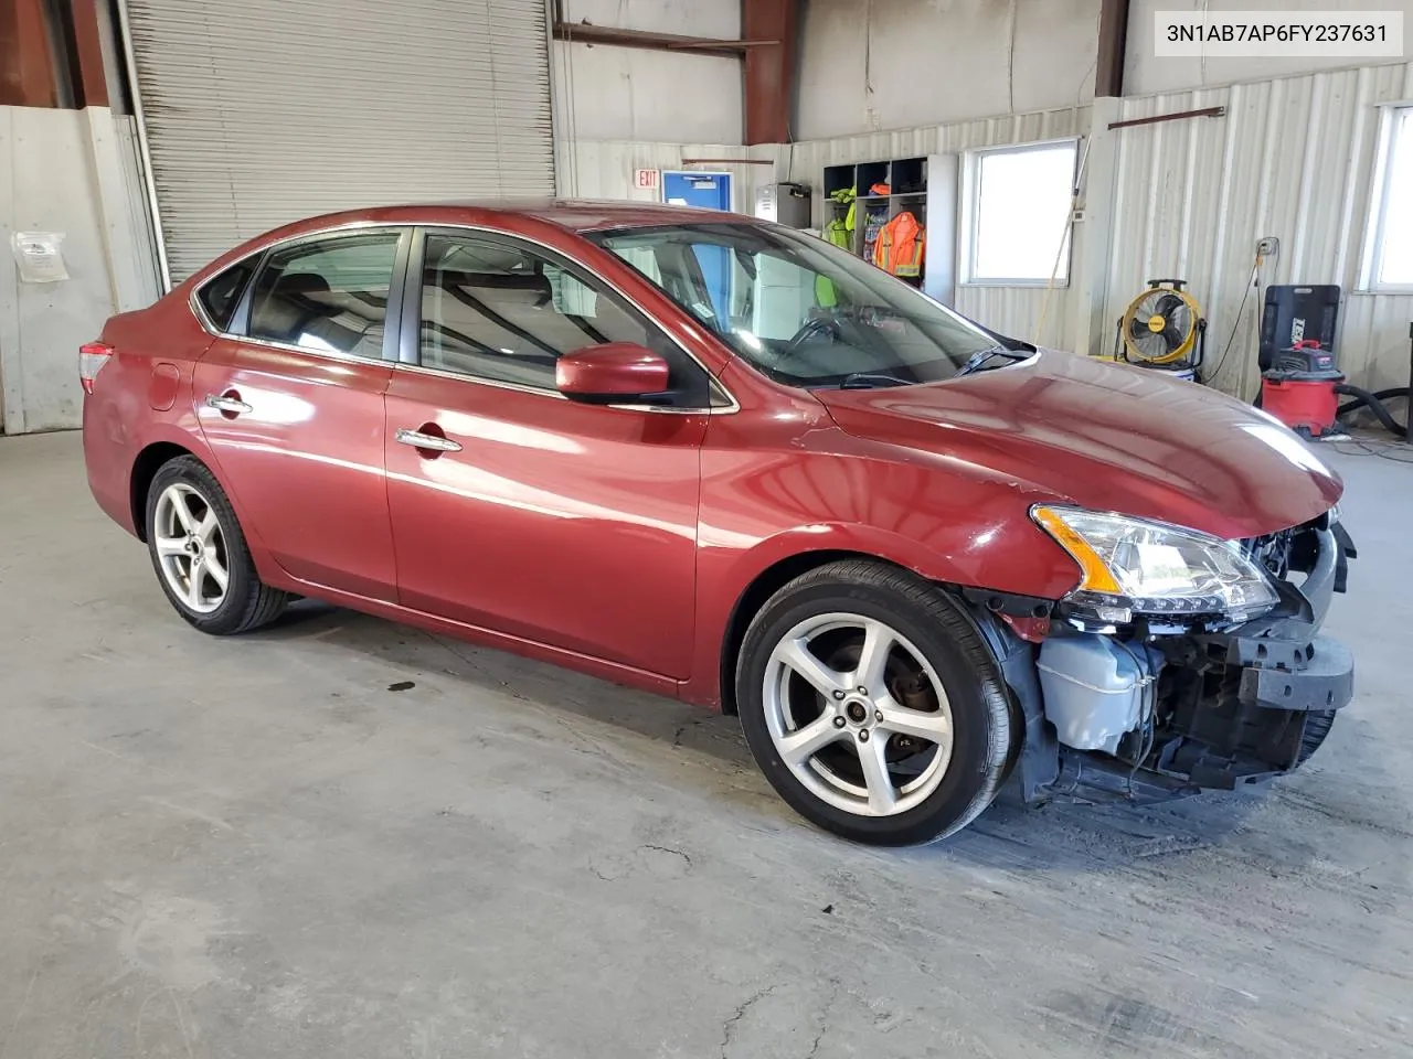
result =
M541 243L537 239L523 236L517 232L504 232L500 229L485 227L480 225L455 225L455 223L427 223L418 225L417 232L413 237L413 247L407 258L407 282L403 288L403 304L401 304L401 333L398 345L398 356L396 366L401 370L421 371L427 374L434 374L442 378L458 378L466 383L476 383L479 385L490 385L500 390L513 390L516 393L524 394L541 394L547 397L557 398L560 401L567 401L564 394L558 390L550 387L536 387L526 383L509 383L500 378L489 378L485 376L473 376L462 371L447 371L444 369L427 367L421 363L421 301L422 301L422 281L421 281L421 263L424 260L427 236L428 234L448 234L448 236L486 236L493 240L500 240L509 244L523 244L527 247L534 247L537 251L543 251L541 257L547 257L551 263L567 263L571 268L582 273L586 277L598 278L599 285L603 291L612 294L613 297L622 299L629 305L647 326L656 330L663 339L675 346L681 353L694 363L701 373L706 377L706 388L709 394L716 394L725 398L726 404L712 405L660 405L660 404L639 404L639 402L623 402L623 404L603 404L596 405L599 408L612 408L616 411L633 411L633 412L658 412L666 415L725 415L729 412L740 411L740 404L736 401L735 395L721 384L721 380L711 373L711 370L694 354L687 346L677 340L671 332L661 325L661 322L647 309L644 309L636 298L627 295L626 291L620 289L615 284L608 282L598 277L598 274L586 265L584 261L578 260L572 254L567 254L564 250L548 243ZM558 258L558 261L557 261ZM414 268L413 264L417 264ZM413 277L418 278L413 278ZM578 278L578 277L577 277ZM584 282L584 280L579 280Z

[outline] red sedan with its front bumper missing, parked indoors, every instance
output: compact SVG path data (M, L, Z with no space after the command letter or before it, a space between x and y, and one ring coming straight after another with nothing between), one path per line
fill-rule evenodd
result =
M861 842L1286 772L1352 695L1340 480L1159 373L815 237L410 206L254 239L85 346L93 494L212 634L291 594L739 713Z

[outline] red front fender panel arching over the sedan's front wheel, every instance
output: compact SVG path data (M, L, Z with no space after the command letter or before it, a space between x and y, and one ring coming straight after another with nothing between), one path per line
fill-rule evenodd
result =
M796 556L870 555L928 580L1037 599L1078 583L1074 559L1030 520L1033 504L1060 497L979 460L846 433L812 398L781 400L790 404L743 408L708 429L684 698L721 700L738 603Z

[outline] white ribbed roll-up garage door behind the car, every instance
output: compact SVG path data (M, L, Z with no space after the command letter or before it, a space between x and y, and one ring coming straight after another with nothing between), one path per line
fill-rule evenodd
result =
M314 213L554 193L540 0L126 0L172 282Z

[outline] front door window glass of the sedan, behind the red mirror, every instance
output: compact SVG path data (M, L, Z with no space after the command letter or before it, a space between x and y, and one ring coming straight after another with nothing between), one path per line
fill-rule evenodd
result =
M632 342L671 369L664 404L705 407L705 371L612 291L510 239L428 233L422 260L421 364L554 390L565 353Z

